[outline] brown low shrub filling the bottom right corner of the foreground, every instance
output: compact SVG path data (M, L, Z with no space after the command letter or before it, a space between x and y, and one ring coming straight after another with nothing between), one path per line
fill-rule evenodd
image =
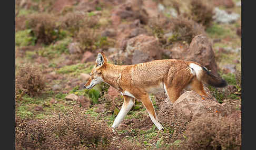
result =
M192 120L180 149L241 149L241 111Z

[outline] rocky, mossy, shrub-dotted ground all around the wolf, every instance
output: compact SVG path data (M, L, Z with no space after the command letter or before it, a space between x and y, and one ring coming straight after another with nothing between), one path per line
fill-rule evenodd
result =
M15 2L16 149L240 149L241 1ZM151 95L164 132L135 100L113 132L120 93L83 89L100 51L117 65L196 61L229 85Z

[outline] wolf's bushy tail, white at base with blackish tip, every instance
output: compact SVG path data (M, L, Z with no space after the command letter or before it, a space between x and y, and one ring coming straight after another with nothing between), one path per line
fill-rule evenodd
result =
M223 88L227 86L227 82L212 74L208 71L205 67L201 66L199 63L196 62L188 62L189 67L191 68L191 73L193 73L199 81L203 83L209 84L213 87Z

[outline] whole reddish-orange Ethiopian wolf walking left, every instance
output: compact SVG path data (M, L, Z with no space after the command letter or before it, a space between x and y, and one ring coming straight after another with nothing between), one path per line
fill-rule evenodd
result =
M98 53L95 67L90 79L84 85L86 89L105 82L123 95L124 102L112 125L117 127L134 105L134 100L141 100L147 113L159 130L160 124L150 99L149 93L166 92L171 102L175 102L182 89L194 90L205 96L203 83L213 87L225 87L227 83L220 77L211 74L205 67L196 62L177 59L154 60L136 65L113 65L107 63L103 52Z

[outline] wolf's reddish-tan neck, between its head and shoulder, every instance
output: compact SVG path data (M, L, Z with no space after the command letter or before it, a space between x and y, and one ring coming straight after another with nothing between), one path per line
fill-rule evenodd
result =
M103 80L117 90L120 90L122 68L118 65L108 63L102 72Z

